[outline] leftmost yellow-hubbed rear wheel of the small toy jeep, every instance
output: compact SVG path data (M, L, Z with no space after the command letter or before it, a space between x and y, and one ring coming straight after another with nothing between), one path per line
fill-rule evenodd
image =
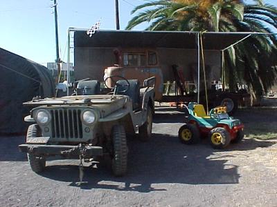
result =
M197 144L200 141L199 130L194 124L185 124L181 126L178 137L184 144Z

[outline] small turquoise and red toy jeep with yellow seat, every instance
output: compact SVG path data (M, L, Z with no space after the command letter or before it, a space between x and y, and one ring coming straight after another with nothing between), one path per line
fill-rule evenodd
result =
M187 124L179 129L179 139L184 144L196 144L200 137L207 137L213 148L225 148L243 139L244 125L239 119L229 117L226 106L213 108L206 115L204 106L198 103L188 103Z

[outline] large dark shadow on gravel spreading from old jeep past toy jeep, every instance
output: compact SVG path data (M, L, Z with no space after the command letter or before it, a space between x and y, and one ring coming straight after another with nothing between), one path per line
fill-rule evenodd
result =
M242 144L234 144L226 150L252 150L258 144L247 148L249 140ZM129 140L128 173L125 177L114 177L110 170L102 165L98 168L86 167L82 189L103 188L114 190L128 190L150 192L166 190L153 184L237 184L240 178L238 166L226 164L229 157L240 155L223 155L211 158L217 150L213 150L207 141L195 146L181 144L177 137L171 135L154 134L151 141L141 143ZM271 146L272 142L259 141L264 146ZM239 154L239 153L238 153ZM69 173L70 172L70 173ZM78 166L48 166L41 175L57 181L72 182L71 186L78 186Z

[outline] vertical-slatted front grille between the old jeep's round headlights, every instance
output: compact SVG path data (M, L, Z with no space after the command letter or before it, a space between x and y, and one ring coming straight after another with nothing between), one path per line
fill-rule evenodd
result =
M82 139L81 110L77 109L53 109L52 136L53 138L80 138Z

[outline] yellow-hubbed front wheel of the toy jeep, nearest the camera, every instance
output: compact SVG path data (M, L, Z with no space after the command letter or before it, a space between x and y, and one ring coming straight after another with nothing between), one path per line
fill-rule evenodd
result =
M210 132L209 139L211 146L215 149L225 148L231 141L229 132L222 127L213 128Z

